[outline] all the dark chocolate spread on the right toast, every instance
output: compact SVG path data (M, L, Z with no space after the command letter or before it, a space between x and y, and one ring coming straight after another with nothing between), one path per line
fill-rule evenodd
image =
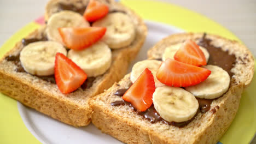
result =
M233 73L231 73L230 70L232 69L232 67L234 67L234 64L236 62L235 55L229 55L228 51L223 51L220 47L216 47L216 46L212 45L211 39L206 39L206 34L203 34L203 37L200 39L199 45L205 47L210 54L210 58L209 58L209 61L207 64L218 65L218 67L221 67L224 70L226 70L228 72L228 74L230 75L230 77L233 75ZM156 59L156 60L161 60L161 58ZM115 95L122 96L122 94L125 93L125 90L127 91L127 89L119 89L115 93ZM198 112L205 113L211 109L211 104L214 99L212 99L212 100L211 99L200 99L200 98L196 98L196 99L199 103L199 110L197 111L197 113ZM133 107L130 103L128 103L124 100L114 101L113 103L111 103L112 106L125 105L125 104L128 104L130 107L132 107L133 110L136 111L135 107ZM217 109L218 109L218 106L217 106ZM214 109L214 111L216 112L216 109ZM212 113L214 113L214 111L212 111ZM155 110L154 105L150 106L149 109L144 112L137 111L137 113L138 113L138 115L141 115L142 117L144 117L151 123L163 122L163 123L166 123L169 125L174 125L174 126L180 127L180 128L185 127L185 125L187 125L191 121L193 121L193 119L196 116L195 115L189 121L185 121L185 122L181 122L181 123L167 122L163 118L160 117L159 113Z

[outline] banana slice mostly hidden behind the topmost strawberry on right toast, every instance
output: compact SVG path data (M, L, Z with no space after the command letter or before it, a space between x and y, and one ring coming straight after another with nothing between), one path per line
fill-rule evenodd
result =
M165 59L167 59L167 58L173 59L175 53L178 51L178 49L179 49L179 47L181 47L181 45L182 45L182 43L179 43L179 44L170 45L170 46L166 47L165 52L162 55L162 61L165 61ZM208 51L202 46L199 46L199 48L202 50L203 54L205 54L206 62L208 62L209 57L210 57Z

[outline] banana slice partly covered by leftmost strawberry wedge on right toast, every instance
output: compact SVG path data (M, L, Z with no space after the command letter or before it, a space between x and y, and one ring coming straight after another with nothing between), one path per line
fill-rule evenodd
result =
M156 78L156 72L158 71L158 68L161 65L161 61L156 61L156 60L145 60L145 61L140 61L137 62L136 64L133 65L132 71L131 71L131 82L134 83L138 77L141 75L141 73L148 68L155 80L155 87L161 87L164 86L164 83L161 83L157 78Z

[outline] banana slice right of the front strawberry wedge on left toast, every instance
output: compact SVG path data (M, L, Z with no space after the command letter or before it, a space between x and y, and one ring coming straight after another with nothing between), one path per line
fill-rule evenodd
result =
M82 68L88 77L104 74L112 61L108 45L98 42L82 51L69 50L68 58Z

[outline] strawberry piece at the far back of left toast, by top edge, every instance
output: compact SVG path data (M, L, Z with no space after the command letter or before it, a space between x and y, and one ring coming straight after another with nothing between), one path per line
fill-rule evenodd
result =
M95 0L90 0L84 12L84 18L89 22L93 22L106 16L108 11L108 5Z

